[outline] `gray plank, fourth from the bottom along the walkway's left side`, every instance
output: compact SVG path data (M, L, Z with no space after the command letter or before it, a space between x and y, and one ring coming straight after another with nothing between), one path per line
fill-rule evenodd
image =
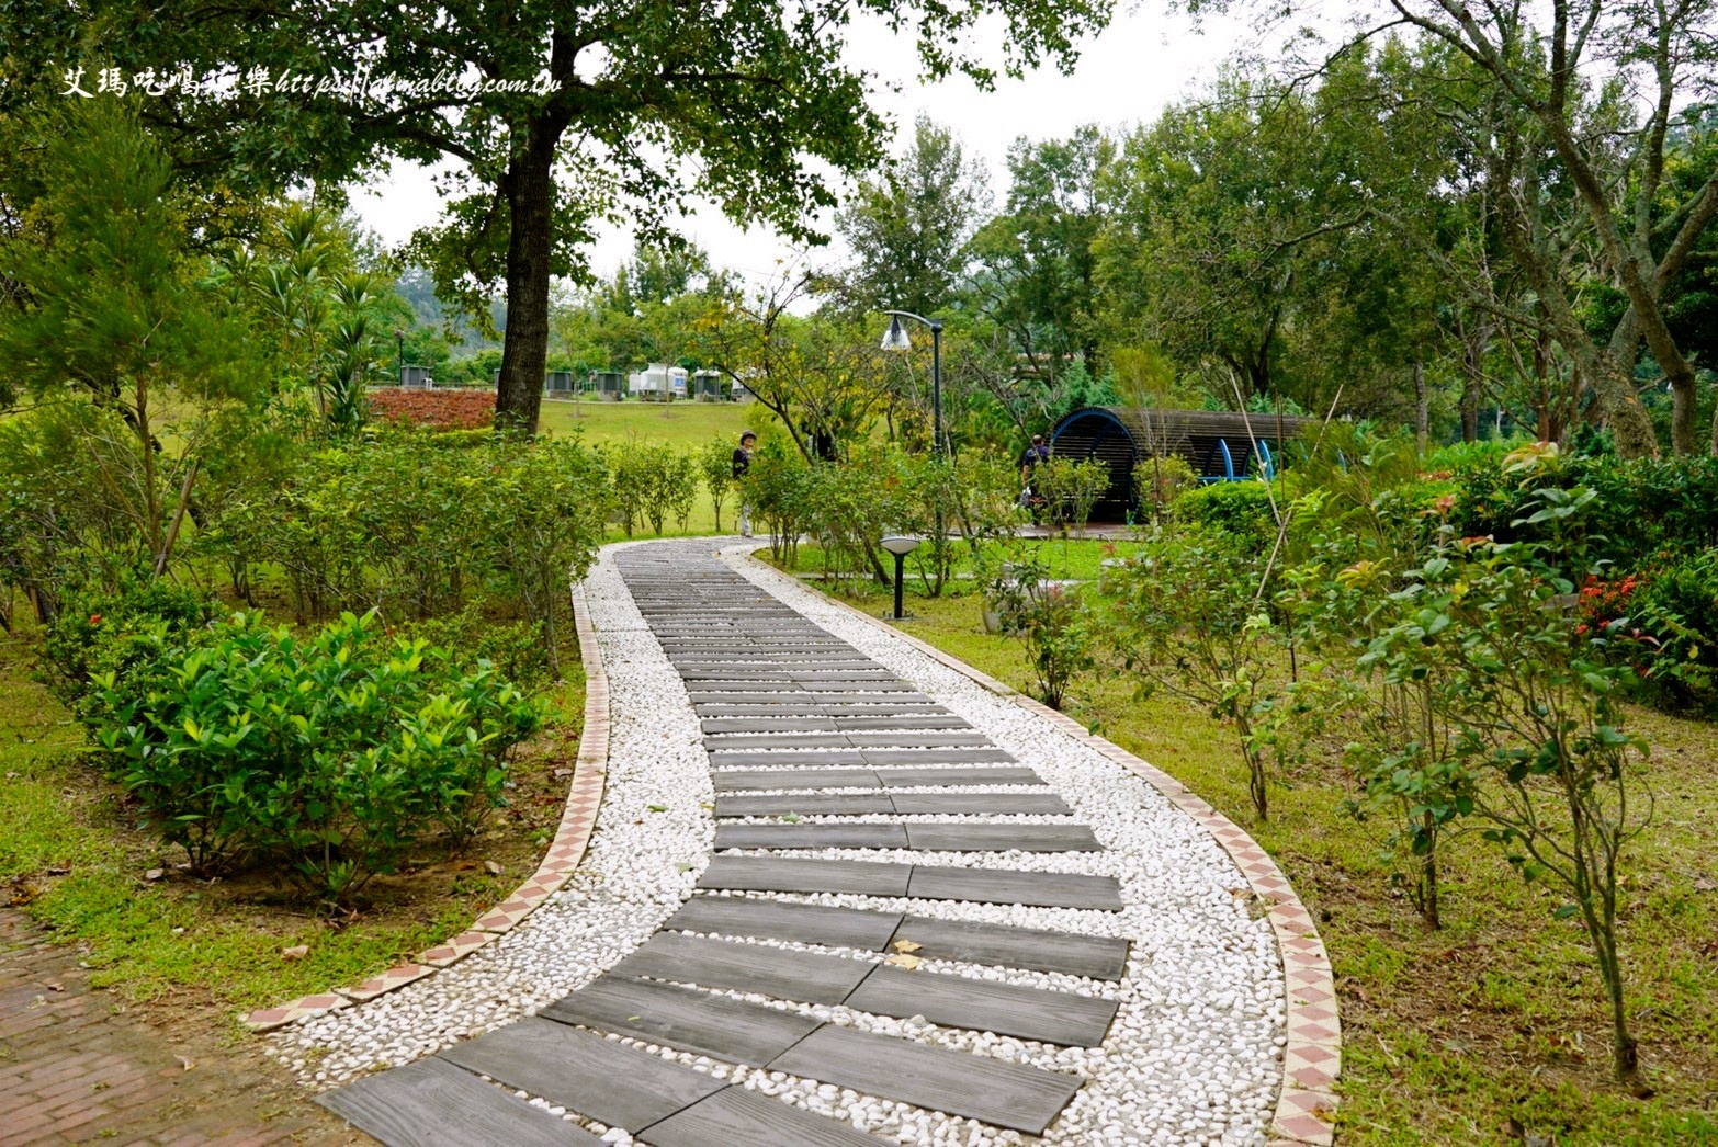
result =
M871 967L847 956L656 932L610 972L632 979L675 980L799 1003L835 1004L859 986Z

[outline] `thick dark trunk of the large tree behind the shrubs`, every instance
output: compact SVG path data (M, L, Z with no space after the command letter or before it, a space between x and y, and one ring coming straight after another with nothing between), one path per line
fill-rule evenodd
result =
M507 196L507 342L495 391L497 429L536 434L548 366L548 254L553 242L555 139L533 125L502 177Z

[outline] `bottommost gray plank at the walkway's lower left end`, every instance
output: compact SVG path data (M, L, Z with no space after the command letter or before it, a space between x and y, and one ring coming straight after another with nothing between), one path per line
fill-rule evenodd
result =
M323 1092L316 1102L388 1147L603 1142L435 1056Z

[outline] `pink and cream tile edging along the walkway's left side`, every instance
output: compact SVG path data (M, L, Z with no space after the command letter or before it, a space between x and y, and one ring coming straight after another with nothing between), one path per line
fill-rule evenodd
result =
M273 1008L258 1008L244 1017L247 1029L271 1032L277 1027L364 1003L426 975L435 975L497 936L505 936L572 877L579 860L584 859L586 845L591 841L591 829L596 828L596 809L603 802L603 783L608 776L608 675L603 671L596 630L591 627L591 613L581 584L572 586L572 620L579 632L579 656L584 659L584 730L579 733L579 759L567 786L567 805L560 814L560 828L555 829L555 840L536 872L469 929L435 948L419 951L409 963L388 968L354 987L304 996Z

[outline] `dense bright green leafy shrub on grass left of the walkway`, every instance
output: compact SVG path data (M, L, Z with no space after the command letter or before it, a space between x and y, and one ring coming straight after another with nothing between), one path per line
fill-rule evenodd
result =
M201 647L161 635L153 652L167 685L148 697L94 678L125 788L199 872L265 852L330 903L430 824L469 838L502 804L507 750L541 723L490 666L460 675L423 640L378 637L373 616L301 642L241 613Z

